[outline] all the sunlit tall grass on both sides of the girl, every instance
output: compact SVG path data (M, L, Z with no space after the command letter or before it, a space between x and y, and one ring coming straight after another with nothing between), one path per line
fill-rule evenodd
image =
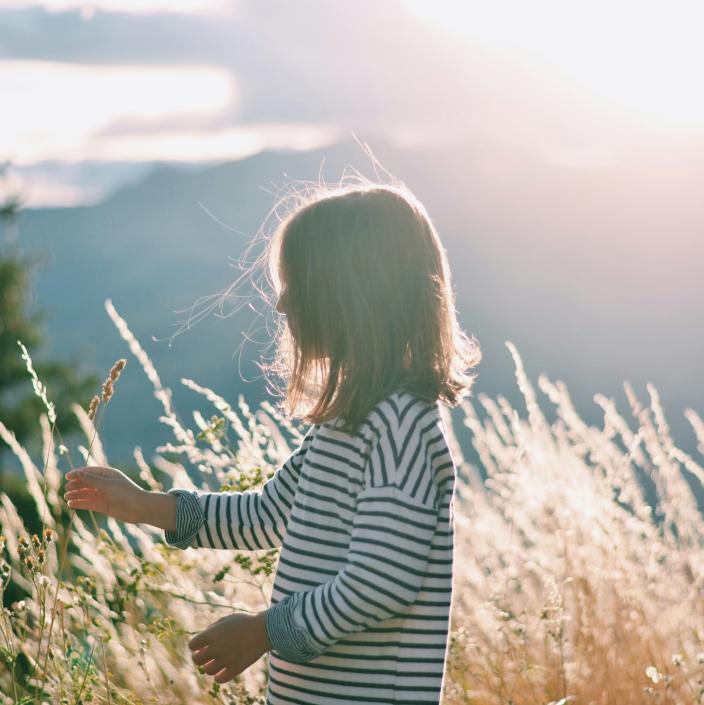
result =
M156 470L169 485L203 490L268 479L292 450L282 430L295 443L302 429L268 403L252 412L240 396L234 409L182 379L217 412L206 419L194 410L187 425L125 321L109 301L106 308L174 434L151 464L135 449L143 485L168 489ZM541 375L539 389L556 412L550 423L518 351L507 346L526 413L501 396L463 402L462 433L481 467L463 459L443 408L459 470L444 703L704 702L696 501L704 470L673 443L652 386L644 406L625 385L635 423L596 395L603 424L594 427L562 383ZM91 439L77 464L108 465L93 419L78 405L74 412ZM704 450L704 423L685 413ZM71 452L56 451L58 426L47 414L39 422L41 469L0 422L44 521L44 533L29 536L0 494L0 589L12 582L27 594L0 614L0 704L263 703L266 657L220 685L193 665L187 641L228 611L266 607L278 552L179 551L148 525L108 518L91 531L72 510L66 522L60 486L68 468L60 466L73 465Z

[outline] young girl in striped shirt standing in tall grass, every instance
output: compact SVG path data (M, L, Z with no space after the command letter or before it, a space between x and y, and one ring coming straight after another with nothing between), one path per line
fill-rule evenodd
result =
M455 466L439 403L481 357L447 257L403 185L320 189L271 238L278 347L302 443L261 491L147 492L114 468L67 474L70 507L165 531L181 549L281 547L271 607L189 642L223 683L264 653L267 703L438 703L452 603Z

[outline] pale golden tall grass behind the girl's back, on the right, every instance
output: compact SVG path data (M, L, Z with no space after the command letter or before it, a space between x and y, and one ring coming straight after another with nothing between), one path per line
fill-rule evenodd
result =
M599 428L541 375L549 424L507 345L527 418L501 397L479 396L483 421L463 404L487 479L462 463L447 703L704 702L701 465L652 385L647 407L625 385L635 430L596 395Z

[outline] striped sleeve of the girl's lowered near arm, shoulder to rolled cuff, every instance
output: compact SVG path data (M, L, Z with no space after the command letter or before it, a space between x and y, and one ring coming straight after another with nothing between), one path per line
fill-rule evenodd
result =
M438 521L428 412L380 412L382 430L365 467L349 549L335 577L288 595L266 612L272 650L294 663L319 656L348 634L404 611L418 597ZM405 421L404 421L405 418Z

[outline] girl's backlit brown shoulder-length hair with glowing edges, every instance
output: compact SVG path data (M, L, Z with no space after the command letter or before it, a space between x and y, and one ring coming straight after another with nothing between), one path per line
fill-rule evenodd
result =
M273 371L290 417L355 433L395 389L456 406L481 360L460 328L447 254L403 184L295 194L265 253L286 324Z

